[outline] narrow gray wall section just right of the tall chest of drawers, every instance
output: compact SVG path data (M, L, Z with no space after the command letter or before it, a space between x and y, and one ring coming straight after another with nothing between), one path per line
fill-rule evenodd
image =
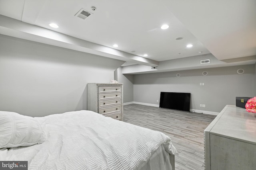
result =
M122 74L122 67L115 71L115 80L124 85L124 103L133 102L133 79L132 74Z

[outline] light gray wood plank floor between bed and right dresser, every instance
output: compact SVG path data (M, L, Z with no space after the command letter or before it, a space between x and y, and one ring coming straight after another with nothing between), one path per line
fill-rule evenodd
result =
M124 106L125 122L160 131L172 139L179 152L176 170L204 170L204 129L215 117L139 104Z

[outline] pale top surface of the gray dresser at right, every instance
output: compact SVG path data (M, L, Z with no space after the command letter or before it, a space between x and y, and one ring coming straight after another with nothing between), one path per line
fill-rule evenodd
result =
M256 145L256 114L227 105L205 131Z

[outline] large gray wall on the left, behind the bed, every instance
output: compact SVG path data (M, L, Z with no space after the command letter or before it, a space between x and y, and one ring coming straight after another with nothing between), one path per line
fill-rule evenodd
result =
M87 83L124 61L0 35L0 110L44 116L87 109Z

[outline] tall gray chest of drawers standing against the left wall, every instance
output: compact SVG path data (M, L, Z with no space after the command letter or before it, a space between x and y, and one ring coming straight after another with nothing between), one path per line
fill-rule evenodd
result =
M104 116L123 120L123 84L87 84L87 107Z

